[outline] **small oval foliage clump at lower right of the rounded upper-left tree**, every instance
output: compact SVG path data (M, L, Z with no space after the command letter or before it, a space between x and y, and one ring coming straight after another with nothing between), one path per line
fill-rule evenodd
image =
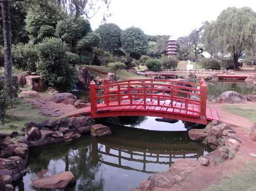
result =
M100 39L101 37L99 34L96 34L95 32L89 32L85 37L78 41L77 48L80 51L83 51L90 47L95 47L99 44Z

